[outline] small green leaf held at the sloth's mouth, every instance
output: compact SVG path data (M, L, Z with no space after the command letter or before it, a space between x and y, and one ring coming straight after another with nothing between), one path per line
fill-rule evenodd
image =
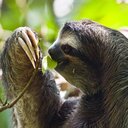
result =
M42 60L42 72L44 73L48 69L54 69L57 66L57 62L52 60L50 56L45 56Z

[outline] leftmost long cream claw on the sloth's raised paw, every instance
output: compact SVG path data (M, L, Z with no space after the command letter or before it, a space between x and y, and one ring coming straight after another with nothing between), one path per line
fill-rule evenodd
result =
M21 47L23 48L23 50L25 51L25 53L27 54L29 60L31 61L34 69L35 69L35 62L34 62L34 58L32 56L32 53L30 52L28 46L26 45L26 43L24 42L24 40L21 37L18 37L18 42L21 45Z

